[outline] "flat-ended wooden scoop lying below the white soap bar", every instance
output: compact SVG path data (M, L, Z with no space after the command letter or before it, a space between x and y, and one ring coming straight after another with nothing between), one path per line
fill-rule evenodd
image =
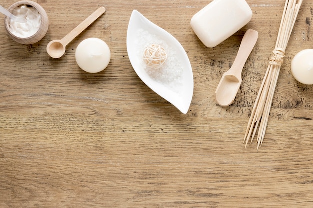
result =
M215 97L219 105L228 106L233 103L242 82L243 66L254 48L257 38L258 32L253 29L249 29L244 34L232 66L223 74L216 88Z

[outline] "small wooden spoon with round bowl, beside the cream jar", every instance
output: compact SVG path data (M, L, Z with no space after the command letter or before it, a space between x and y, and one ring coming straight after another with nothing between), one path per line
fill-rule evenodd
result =
M60 58L63 56L66 50L66 45L77 37L83 30L85 30L92 22L99 18L104 12L105 8L101 6L61 40L52 40L49 42L46 47L48 54L52 58Z

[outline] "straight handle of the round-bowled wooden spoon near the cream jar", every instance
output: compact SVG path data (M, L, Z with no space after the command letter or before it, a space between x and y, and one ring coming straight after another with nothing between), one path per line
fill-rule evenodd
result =
M77 37L83 30L85 30L92 22L99 18L105 12L105 8L101 6L96 11L94 11L90 16L88 16L83 22L81 22L75 29L69 32L65 37L63 37L60 42L66 46L75 37Z

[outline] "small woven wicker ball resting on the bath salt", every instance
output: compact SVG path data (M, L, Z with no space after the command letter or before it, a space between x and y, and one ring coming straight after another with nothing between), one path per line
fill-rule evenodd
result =
M143 60L151 68L158 69L165 64L167 54L165 49L157 44L145 48Z

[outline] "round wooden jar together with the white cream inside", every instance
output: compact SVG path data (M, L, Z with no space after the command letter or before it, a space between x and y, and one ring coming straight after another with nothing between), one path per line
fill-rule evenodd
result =
M7 10L15 16L26 19L26 22L16 22L7 16L4 17L5 30L16 42L34 44L47 33L48 15L38 3L22 0L14 3Z

